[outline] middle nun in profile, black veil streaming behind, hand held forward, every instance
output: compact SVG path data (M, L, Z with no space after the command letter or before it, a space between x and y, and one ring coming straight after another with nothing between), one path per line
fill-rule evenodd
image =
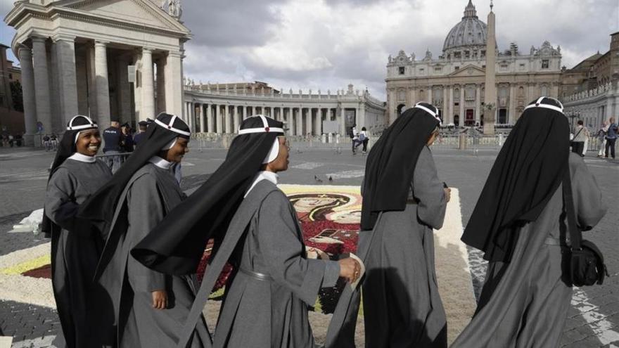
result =
M241 202L231 210L234 217L210 259L192 309L194 315L202 311L222 267L230 260L236 273L226 286L213 347L313 348L307 311L314 305L319 289L336 285L340 275L349 280L359 276L359 266L350 258L339 262L307 259L295 210L276 186L276 172L288 167L288 146L281 126L281 122L262 115L245 120L226 162L204 184L211 191L229 193L227 200L233 200L236 188L241 188ZM249 152L239 151L243 146ZM238 172L236 168L247 162L253 170ZM218 172L226 170L230 170L228 175L215 181L222 174ZM241 185L234 185L231 180L240 180ZM196 202L186 201L179 206L179 214L188 212L194 204L203 204L199 200L212 199L200 195L200 189L191 197L194 196ZM202 213L210 214L208 210ZM183 220L198 219L191 212L184 215ZM149 239L150 236L134 250L139 259L154 254ZM183 336L195 325L195 317L190 315ZM181 339L178 347L186 347L184 342Z

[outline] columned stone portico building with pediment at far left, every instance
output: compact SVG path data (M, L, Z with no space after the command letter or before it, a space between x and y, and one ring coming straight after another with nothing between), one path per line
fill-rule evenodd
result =
M4 21L16 30L25 140L62 133L77 114L102 127L167 110L183 115L184 42L178 1L23 0ZM156 75L156 76L155 76Z

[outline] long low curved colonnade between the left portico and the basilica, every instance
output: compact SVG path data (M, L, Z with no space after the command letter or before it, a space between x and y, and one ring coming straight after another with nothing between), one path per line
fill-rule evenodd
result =
M292 89L283 93L264 82L212 85L188 80L184 96L189 126L198 133L234 134L242 120L258 114L284 122L291 136L346 134L352 124L371 132L387 126L384 103L352 84L336 94L304 94ZM336 127L324 128L324 121Z

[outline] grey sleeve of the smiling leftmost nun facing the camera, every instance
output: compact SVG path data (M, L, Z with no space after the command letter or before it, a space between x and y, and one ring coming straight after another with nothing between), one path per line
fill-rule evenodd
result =
M75 201L77 181L69 171L59 168L49 179L45 193L45 214L51 221L68 231L79 228L80 221L75 215L79 205Z

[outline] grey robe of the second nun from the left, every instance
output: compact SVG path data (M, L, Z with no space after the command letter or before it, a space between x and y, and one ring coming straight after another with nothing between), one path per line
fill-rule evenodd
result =
M153 271L129 252L185 197L174 174L151 163L132 176L120 196L99 270L99 282L113 299L119 347L177 344L195 299L194 278ZM151 292L155 290L167 291L166 309L153 309ZM200 317L190 347L203 347L205 339L208 332Z

